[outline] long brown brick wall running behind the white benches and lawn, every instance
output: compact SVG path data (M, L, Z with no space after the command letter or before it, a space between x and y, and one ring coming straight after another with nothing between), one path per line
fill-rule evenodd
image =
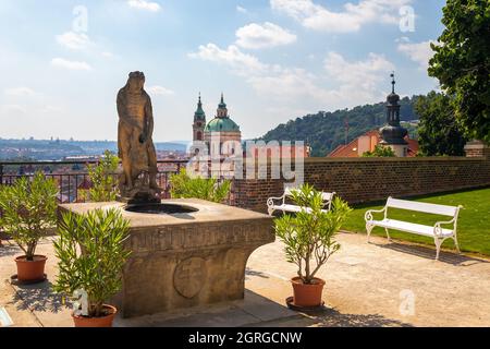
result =
M350 203L382 201L490 185L490 149L475 157L306 158L305 182L334 191ZM270 164L269 164L270 166ZM235 205L265 212L283 179L234 180Z

